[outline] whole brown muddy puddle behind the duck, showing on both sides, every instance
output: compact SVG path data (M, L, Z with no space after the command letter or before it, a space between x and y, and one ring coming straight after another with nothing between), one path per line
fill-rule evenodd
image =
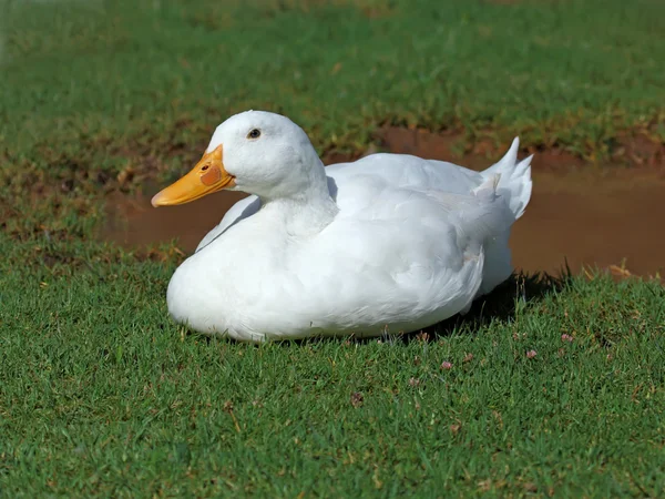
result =
M456 159L451 142L433 134L403 131L385 135L392 152L453 161L482 169L493 161L483 156ZM340 161L340 157L335 157ZM525 215L511 237L515 267L525 272L557 273L567 261L573 272L582 266L621 265L633 274L665 271L665 170L596 167L565 154L536 154L533 194ZM556 167L553 167L556 166ZM582 171L580 171L582 170ZM150 197L108 198L105 240L140 246L178 240L192 252L226 210L244 197L222 192L182 206L153 208Z

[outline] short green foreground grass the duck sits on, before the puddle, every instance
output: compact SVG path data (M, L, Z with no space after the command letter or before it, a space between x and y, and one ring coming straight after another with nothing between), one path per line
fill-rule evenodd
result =
M573 279L429 342L254 347L185 334L173 265L116 257L28 286L2 264L7 497L665 493L655 283Z

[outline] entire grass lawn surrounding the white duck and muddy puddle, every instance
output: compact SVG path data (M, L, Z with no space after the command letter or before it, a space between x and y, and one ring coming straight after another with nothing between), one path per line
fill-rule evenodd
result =
M595 161L662 143L663 16L0 0L0 497L665 495L656 282L518 278L427 338L255 347L168 319L177 242L99 241L105 194L175 179L245 109L321 153L383 124Z

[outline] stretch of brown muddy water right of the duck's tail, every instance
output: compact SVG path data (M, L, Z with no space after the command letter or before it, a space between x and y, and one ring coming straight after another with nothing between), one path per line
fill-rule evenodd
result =
M665 271L665 179L533 175L526 213L514 225L515 266L529 272L621 266L633 274Z

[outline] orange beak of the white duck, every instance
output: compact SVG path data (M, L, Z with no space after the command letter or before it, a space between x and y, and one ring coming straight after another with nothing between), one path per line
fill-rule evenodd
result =
M205 153L190 173L155 194L152 205L157 207L184 204L222 189L235 186L235 177L224 169L222 156L222 145Z

